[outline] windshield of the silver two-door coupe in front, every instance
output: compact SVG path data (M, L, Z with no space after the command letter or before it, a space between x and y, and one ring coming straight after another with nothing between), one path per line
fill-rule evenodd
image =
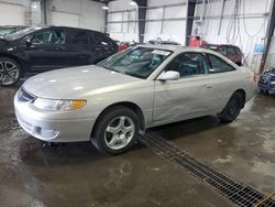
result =
M167 50L134 47L112 55L98 66L146 79L170 54Z

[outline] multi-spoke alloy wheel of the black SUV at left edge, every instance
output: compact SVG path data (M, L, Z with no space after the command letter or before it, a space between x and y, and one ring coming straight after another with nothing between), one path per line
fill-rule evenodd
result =
M0 58L0 86L13 86L22 76L20 65L8 57Z

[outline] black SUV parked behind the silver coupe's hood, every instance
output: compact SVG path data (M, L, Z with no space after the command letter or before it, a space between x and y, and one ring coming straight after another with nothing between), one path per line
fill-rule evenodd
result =
M0 40L0 85L26 73L90 65L118 52L106 34L75 28L28 28Z

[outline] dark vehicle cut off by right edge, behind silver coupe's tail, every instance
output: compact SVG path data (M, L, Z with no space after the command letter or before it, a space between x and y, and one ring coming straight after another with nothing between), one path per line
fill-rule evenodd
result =
M262 92L275 92L275 68L271 68L260 76L257 87Z

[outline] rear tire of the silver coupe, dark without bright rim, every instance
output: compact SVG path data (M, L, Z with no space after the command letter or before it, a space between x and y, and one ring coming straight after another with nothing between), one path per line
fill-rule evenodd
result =
M229 99L224 109L218 115L220 121L223 123L229 123L235 120L243 108L244 101L245 100L242 92L234 92Z

